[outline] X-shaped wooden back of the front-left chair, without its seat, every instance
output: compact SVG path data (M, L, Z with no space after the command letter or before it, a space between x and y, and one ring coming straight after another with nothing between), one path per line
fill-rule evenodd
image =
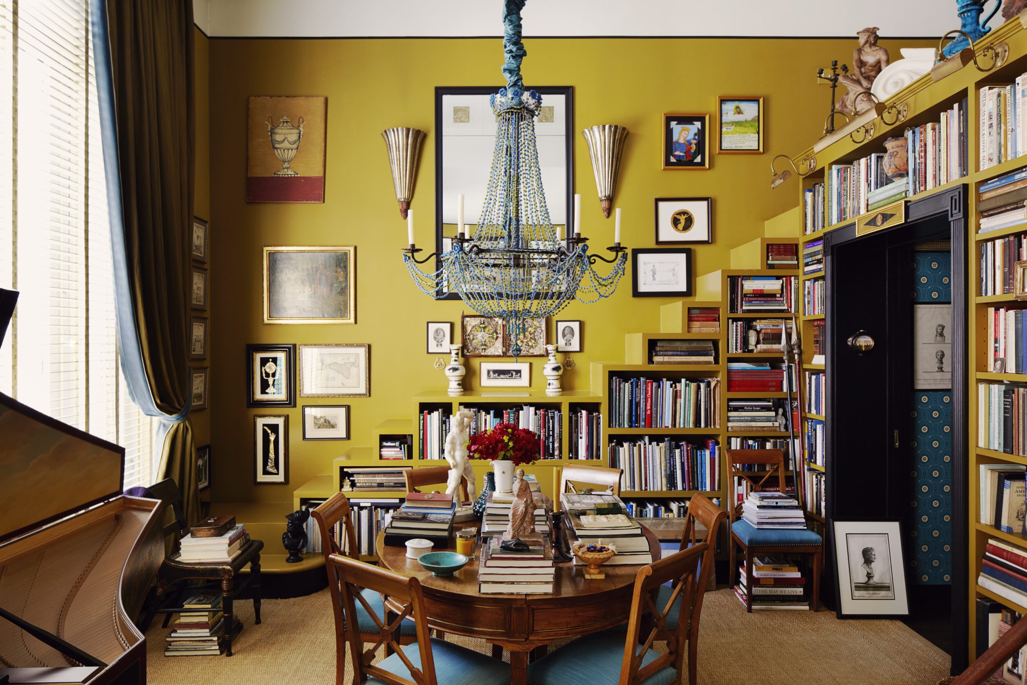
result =
M424 596L421 594L420 581L415 577L406 578L341 555L330 555L328 563L335 567L343 611L347 617L345 633L350 660L353 663L353 683L363 683L372 677L390 685L439 685L435 679L435 663L431 656L431 642L424 615ZM385 616L379 616L371 603L360 594L365 588L379 593L383 600L387 597L392 604L398 604L400 613L386 623ZM357 630L357 602L378 625L377 634L360 633ZM407 618L414 621L417 633L416 647L420 657L420 668L415 667L400 645L400 623ZM374 642L366 648L366 641L371 640ZM413 680L398 677L372 663L378 656L378 650L382 648L387 648L398 656L410 671Z

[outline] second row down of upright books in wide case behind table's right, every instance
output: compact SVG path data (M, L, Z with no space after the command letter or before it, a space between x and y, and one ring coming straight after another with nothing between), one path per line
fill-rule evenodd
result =
M622 490L720 489L720 449L715 440L624 441L611 444L608 456L610 466L623 469Z

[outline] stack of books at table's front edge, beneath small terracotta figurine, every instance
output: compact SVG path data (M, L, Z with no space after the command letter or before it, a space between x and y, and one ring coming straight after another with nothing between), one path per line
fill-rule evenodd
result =
M482 594L496 593L538 595L553 592L556 566L549 538L534 533L521 539L528 543L526 551L502 549L500 536L482 539L478 565L478 589Z

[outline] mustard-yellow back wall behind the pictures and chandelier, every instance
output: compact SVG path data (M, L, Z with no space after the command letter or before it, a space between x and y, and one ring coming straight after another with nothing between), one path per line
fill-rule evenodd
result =
M820 136L830 91L816 68L850 61L855 40L536 39L527 40L525 83L575 87L575 187L582 195L582 232L609 244L580 130L617 123L631 130L616 205L630 246L653 245L653 198L711 196L714 240L696 245L696 274L729 265L729 250L762 234L763 221L795 201L794 187L771 192L770 158L808 147ZM929 41L906 41L904 46ZM899 45L881 44L896 58ZM199 60L198 60L199 61ZM210 42L210 157L213 257L211 425L213 496L219 502L286 502L292 490L329 472L331 460L370 445L383 419L413 419L413 392L445 388L434 355L424 352L426 320L459 321L460 302L434 302L407 275L406 243L380 131L414 126L428 134L412 206L416 235L431 246L434 216L434 86L501 85L500 41L488 40L233 40ZM763 155L714 155L710 170L660 170L661 114L709 112L718 94L763 96ZM328 146L324 204L246 204L246 98L327 96ZM716 117L711 117L714 124ZM711 151L713 146L711 146ZM487 169L483 169L483 174ZM794 183L794 180L791 182ZM197 198L199 194L197 194ZM197 202L197 206L201 206ZM356 324L262 324L262 245L356 245ZM585 388L588 363L623 359L624 333L655 331L667 299L633 299L631 271L616 295L597 305L573 304L561 317L581 318L584 352L564 375L565 388ZM468 312L469 313L469 312ZM551 322L549 334L553 335ZM289 485L254 486L253 416L245 406L246 343L370 343L371 397L300 399L348 404L350 442L303 442L300 408L290 417ZM542 360L532 385L544 386ZM478 387L478 359L465 387Z

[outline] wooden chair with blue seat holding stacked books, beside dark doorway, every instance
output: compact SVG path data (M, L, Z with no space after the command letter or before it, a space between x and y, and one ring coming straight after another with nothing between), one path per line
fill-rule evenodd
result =
M731 469L731 506L728 512L731 522L730 568L728 578L734 587L734 578L738 569L735 562L735 545L741 548L746 556L747 589L753 586L753 555L757 553L775 554L806 554L813 556L812 588L809 603L813 611L820 609L821 597L821 566L824 563L824 539L813 531L802 529L757 529L749 522L741 520L741 504L737 502L735 492L735 477L744 478L752 486L753 492L759 492L767 482L776 474L779 492L785 492L785 453L782 450L728 450L727 462ZM758 482L750 478L753 471L739 470L743 464L769 464L770 468ZM753 610L753 595L746 593L746 611Z

